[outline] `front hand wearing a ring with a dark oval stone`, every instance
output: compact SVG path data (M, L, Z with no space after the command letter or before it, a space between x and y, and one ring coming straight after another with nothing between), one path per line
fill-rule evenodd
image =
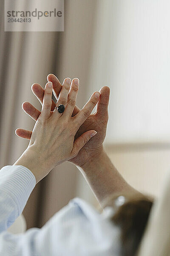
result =
M71 87L70 87L71 83ZM56 107L65 105L65 111L51 111L52 82L45 85L42 111L35 123L28 148L15 165L30 169L37 182L55 166L76 157L80 149L96 134L96 131L85 131L75 139L79 127L85 122L99 100L95 92L76 116L72 117L76 104L79 80L65 79L59 94ZM69 93L68 93L69 92Z

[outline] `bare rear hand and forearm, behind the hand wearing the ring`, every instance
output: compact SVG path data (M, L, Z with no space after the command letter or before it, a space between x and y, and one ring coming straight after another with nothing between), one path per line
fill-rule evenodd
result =
M53 74L49 74L47 76L47 80L53 84L54 96L57 99L62 99L61 89L64 86L64 82L61 85L57 77ZM31 89L42 104L45 95L44 89L40 86L40 84L33 84ZM102 87L99 90L99 93L100 96L96 105L96 113L88 115L85 121L82 122L82 125L79 127L77 133L75 134L75 141L77 138L79 138L80 135L88 132L89 130L96 131L97 134L88 140L88 142L83 147L81 147L76 156L70 157L67 160L71 163L74 163L82 172L82 175L85 177L91 186L91 189L94 191L96 198L102 204L102 201L104 201L105 198L113 193L134 193L136 191L123 179L123 177L113 166L109 157L103 150L103 141L105 139L108 123L108 103L110 89L107 86ZM34 108L34 106L29 102L24 102L22 107L29 116L37 121L41 114L40 111ZM54 107L55 103L51 101L51 111L54 110ZM72 116L75 117L79 113L81 113L81 111L75 105ZM28 140L32 139L32 131L17 129L16 134L19 137L23 137Z

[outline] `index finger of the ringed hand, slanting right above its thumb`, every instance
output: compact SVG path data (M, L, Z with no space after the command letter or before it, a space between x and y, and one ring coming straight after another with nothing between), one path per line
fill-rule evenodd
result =
M78 124L78 128L80 125L85 122L85 120L90 116L91 112L93 111L94 107L96 106L98 100L100 97L99 92L93 93L93 95L90 97L88 102L84 105L81 111L74 117L74 121L76 124Z

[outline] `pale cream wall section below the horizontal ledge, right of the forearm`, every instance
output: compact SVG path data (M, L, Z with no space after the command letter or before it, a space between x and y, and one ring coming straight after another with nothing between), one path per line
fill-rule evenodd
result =
M125 148L106 151L127 182L137 190L159 196L161 187L170 172L170 149Z

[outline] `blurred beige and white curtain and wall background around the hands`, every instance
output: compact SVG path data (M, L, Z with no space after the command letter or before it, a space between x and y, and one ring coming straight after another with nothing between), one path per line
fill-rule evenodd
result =
M31 84L48 73L78 77L77 105L111 88L105 150L136 189L155 196L170 170L170 29L167 0L65 0L64 32L4 32L0 0L0 164L28 145L14 134L32 129L21 109L40 104ZM64 163L37 184L24 209L27 227L41 227L71 198L97 201L77 168Z

